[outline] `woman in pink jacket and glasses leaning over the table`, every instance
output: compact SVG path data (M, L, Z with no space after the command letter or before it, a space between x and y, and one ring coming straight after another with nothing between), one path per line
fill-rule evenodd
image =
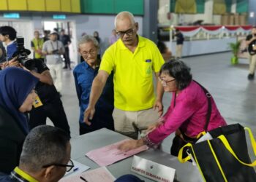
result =
M165 63L160 70L159 80L165 92L173 94L170 107L159 122L148 127L149 132L145 137L127 141L121 144L119 149L130 150L144 144L150 147L158 146L173 132L176 132L173 145L178 145L177 139L195 141L200 132L226 125L214 99L206 93L207 90L192 80L190 68L181 60ZM211 106L208 107L208 104ZM207 116L209 119L206 119ZM171 150L173 155L177 155L178 149Z

